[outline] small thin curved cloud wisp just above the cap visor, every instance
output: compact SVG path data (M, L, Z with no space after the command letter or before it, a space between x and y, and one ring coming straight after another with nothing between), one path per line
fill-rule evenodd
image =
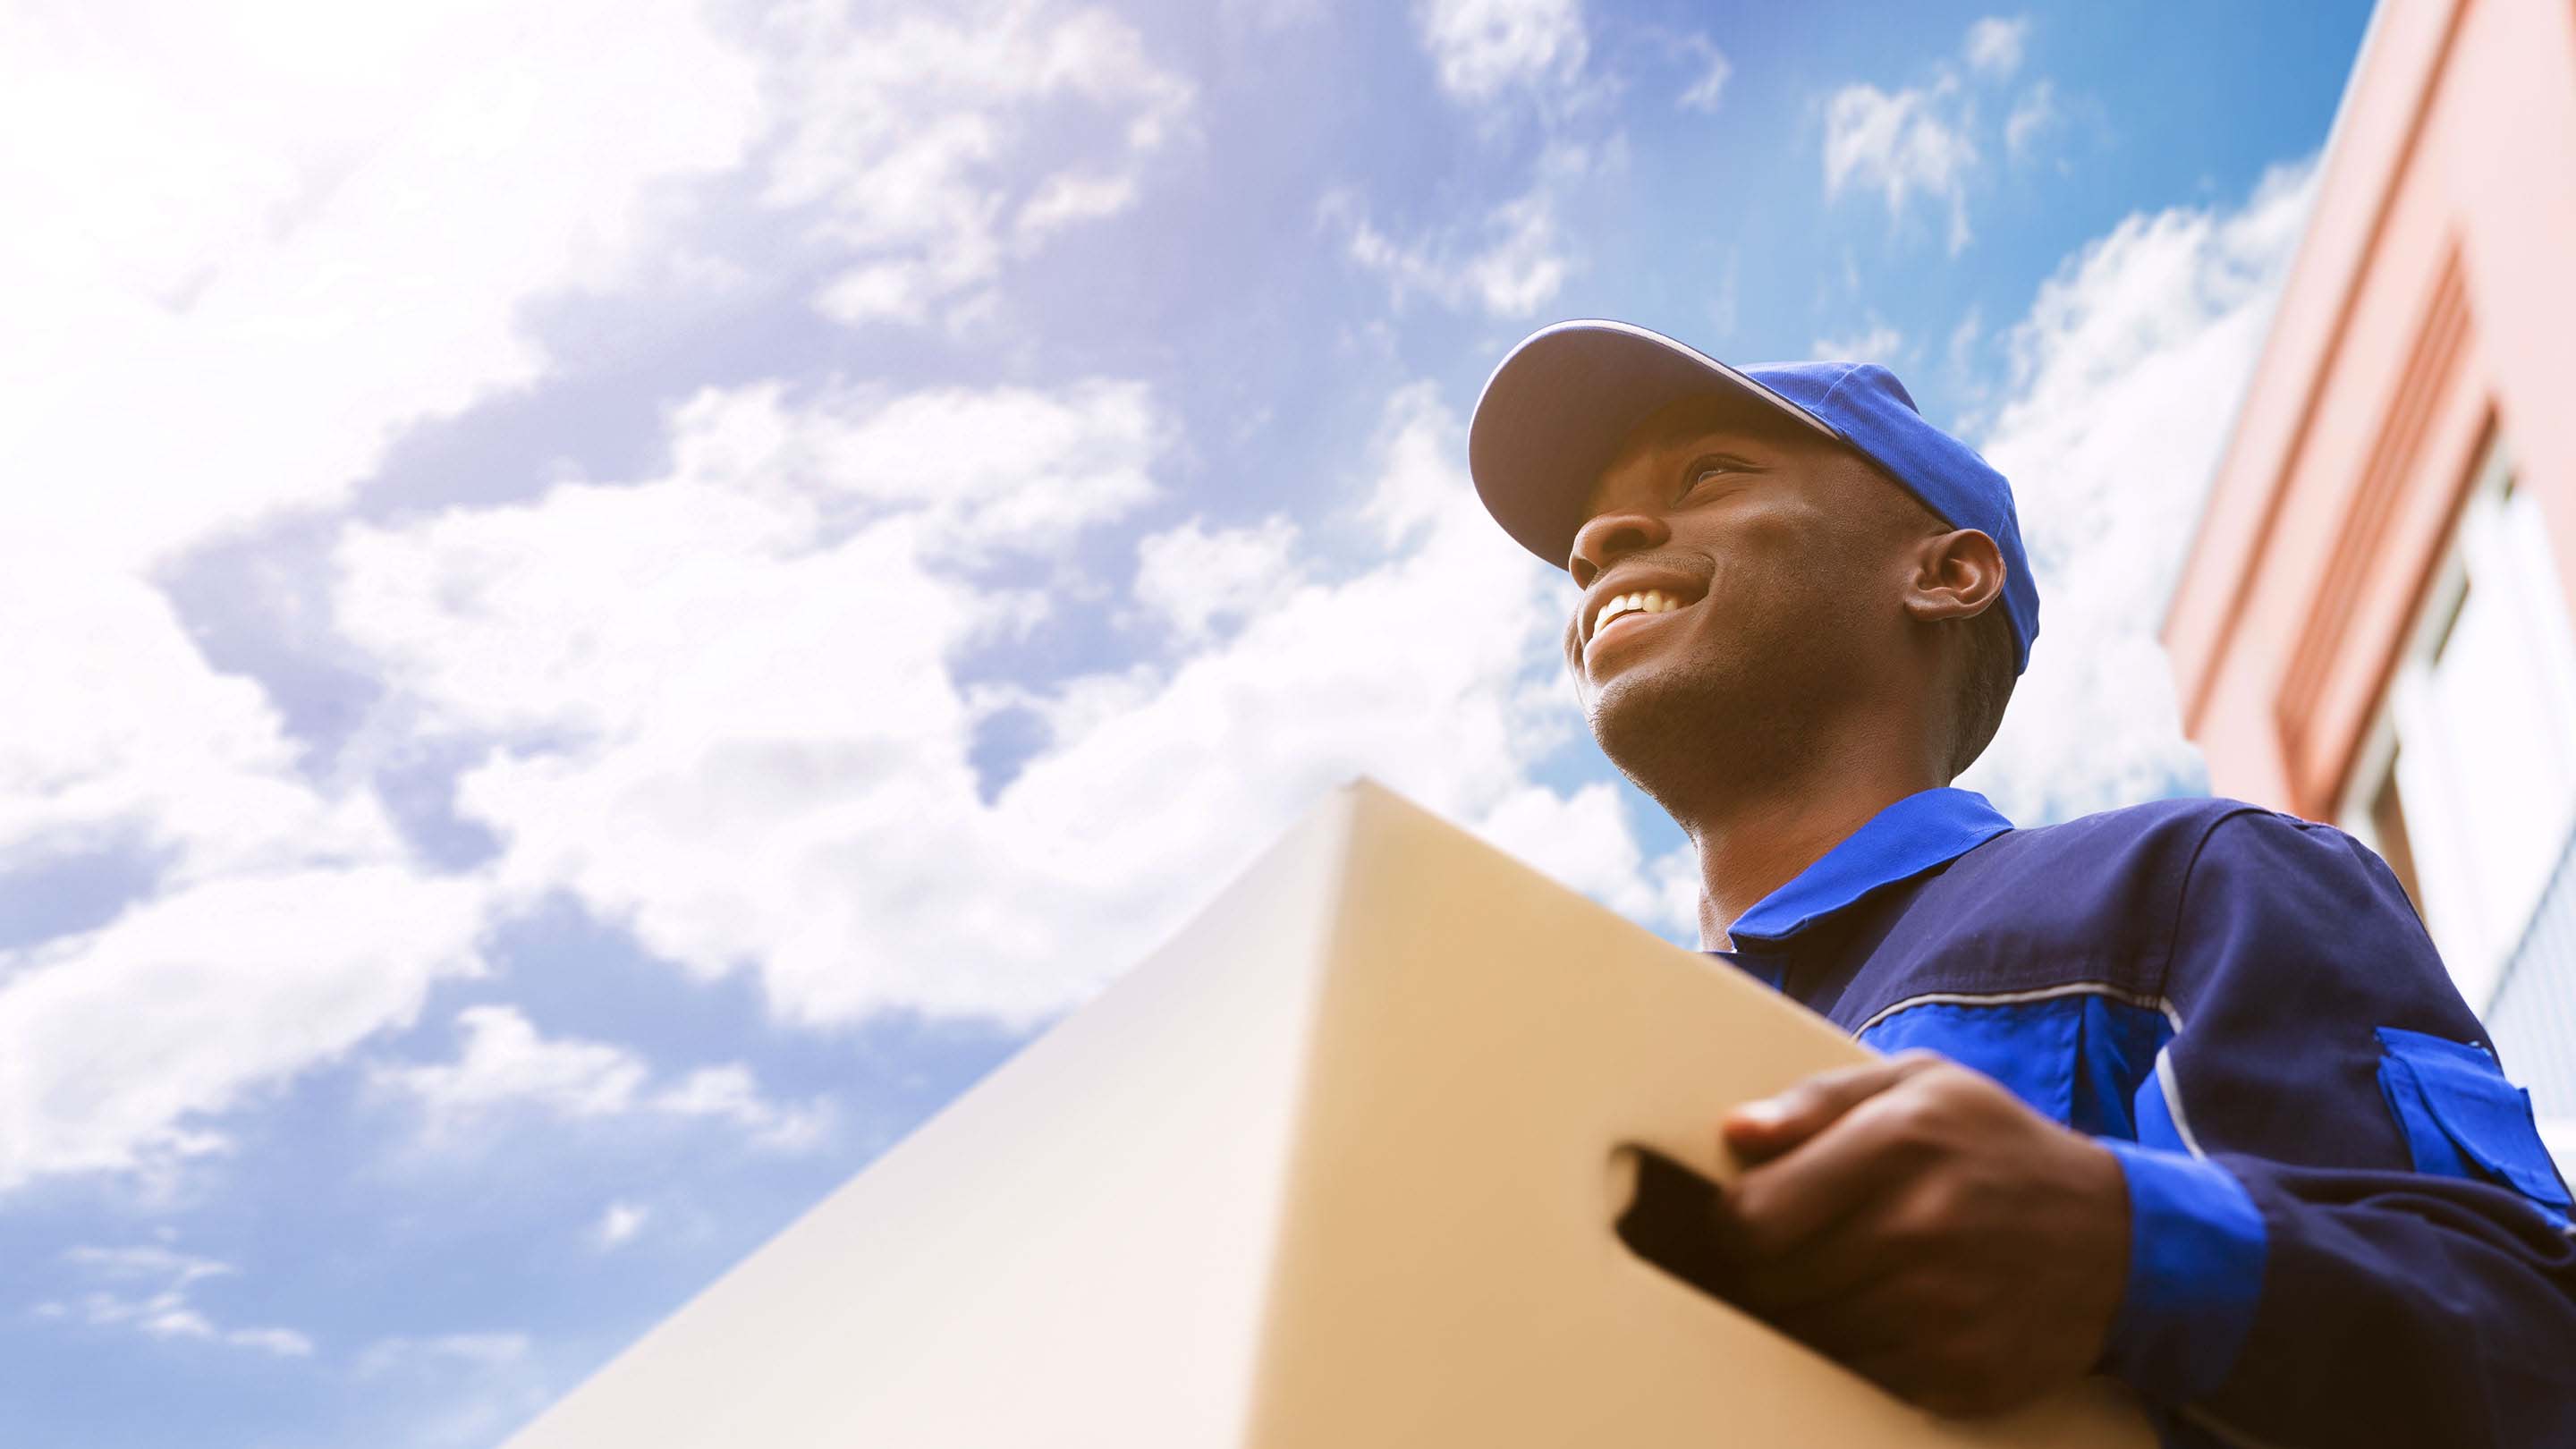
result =
M1399 307L1406 297L1430 297L1492 317L1530 317L1574 273L1558 214L1589 165L1582 147L1553 144L1540 155L1530 191L1471 227L1430 237L1396 240L1381 232L1347 193L1324 199L1324 222L1350 235L1350 260L1383 276Z

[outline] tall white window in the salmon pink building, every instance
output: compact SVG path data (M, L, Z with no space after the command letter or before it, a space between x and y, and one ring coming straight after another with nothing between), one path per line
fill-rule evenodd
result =
M2576 629L2548 529L2488 449L2344 799L2460 995L2488 1006L2576 830Z

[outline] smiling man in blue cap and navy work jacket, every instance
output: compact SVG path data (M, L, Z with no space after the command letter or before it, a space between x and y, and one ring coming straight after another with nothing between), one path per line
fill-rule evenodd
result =
M1582 588L1566 663L1703 944L1893 1052L1713 1124L1744 1307L1945 1413L2110 1372L2177 1446L2576 1444L2568 1189L2388 866L1950 786L2040 598L2012 487L1886 369L1564 322L1468 462Z

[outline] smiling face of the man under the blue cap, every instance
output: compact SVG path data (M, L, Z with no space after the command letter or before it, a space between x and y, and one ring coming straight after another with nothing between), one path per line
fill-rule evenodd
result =
M1708 400L1641 423L1587 518L1566 663L1651 794L1767 761L1868 691L1904 632L1901 541L1940 529L1839 443Z

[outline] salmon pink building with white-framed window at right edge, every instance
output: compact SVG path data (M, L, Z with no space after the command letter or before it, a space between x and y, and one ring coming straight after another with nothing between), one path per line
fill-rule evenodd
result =
M2576 1119L2576 5L2383 0L2164 621L2210 789L2406 882Z

